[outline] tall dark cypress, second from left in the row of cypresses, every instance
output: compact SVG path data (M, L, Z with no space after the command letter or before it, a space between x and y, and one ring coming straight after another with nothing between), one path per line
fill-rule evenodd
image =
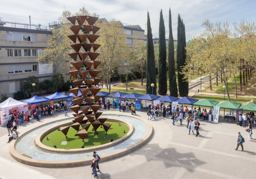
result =
M166 65L166 40L165 40L165 26L163 21L163 12L160 11L159 21L159 58L158 58L158 93L159 95L166 95L167 93L167 65Z

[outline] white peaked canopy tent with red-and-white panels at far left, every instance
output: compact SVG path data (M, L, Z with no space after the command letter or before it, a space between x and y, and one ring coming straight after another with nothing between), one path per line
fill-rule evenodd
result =
M7 124L9 114L13 110L17 110L17 112L26 112L28 110L28 103L17 101L13 98L8 98L4 102L0 103L1 126Z

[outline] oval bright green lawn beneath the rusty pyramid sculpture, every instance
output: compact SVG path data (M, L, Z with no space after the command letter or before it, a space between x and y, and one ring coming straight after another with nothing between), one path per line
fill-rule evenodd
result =
M119 126L118 123L107 121L105 123L112 123L110 129L107 131L107 135L104 135L106 133L104 128L100 127L97 129L97 132L99 134L94 135L94 132L92 131L93 126L90 125L87 131L88 137L84 140L85 142L82 142L82 139L80 137L74 136L77 131L71 127L68 130L68 138L65 138L65 135L61 131L58 131L58 129L56 129L44 136L41 139L41 142L48 147L53 147L53 145L56 145L57 148L63 148L63 145L60 145L61 142L68 141L67 145L65 145L65 149L77 149L81 148L81 146L85 146L86 148L106 144L110 142L110 139L113 139L113 141L117 140L129 131L129 128L126 125L121 124L121 126ZM82 130L81 126L80 130ZM124 133L124 130L126 133ZM46 137L48 137L49 140L46 140Z

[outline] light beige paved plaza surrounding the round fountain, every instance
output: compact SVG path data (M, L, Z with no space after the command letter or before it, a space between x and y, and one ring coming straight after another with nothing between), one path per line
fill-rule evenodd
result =
M103 111L130 115L130 112L119 110ZM68 115L71 116L71 113L69 111ZM144 120L148 118L146 112L137 112L137 117ZM25 125L18 126L18 132L22 133L51 120L63 118L64 114L57 112L52 117L41 118L40 122L31 120L29 123L25 122ZM156 120L149 120L153 127L151 139L127 155L99 162L101 172L98 173L98 178L256 178L253 172L256 164L256 130L252 131L252 141L247 141L248 133L245 128L233 122L225 123L221 117L219 123L200 121L200 135L196 137L188 135L185 119L182 122L182 126L177 123L174 126L171 118L159 117ZM234 150L238 132L241 132L245 139L244 151L241 151L241 147L238 151ZM0 128L0 135L2 179L93 178L90 165L45 168L21 164L10 156L9 144L6 143L8 132L5 127Z

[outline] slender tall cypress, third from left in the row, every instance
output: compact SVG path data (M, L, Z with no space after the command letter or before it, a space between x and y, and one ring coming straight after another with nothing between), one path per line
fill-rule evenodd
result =
M175 81L173 81L174 75L175 75ZM169 9L168 76L169 76L170 96L175 96L176 94L178 95L176 74L175 74L174 41L173 41L172 27L171 27L171 8Z

